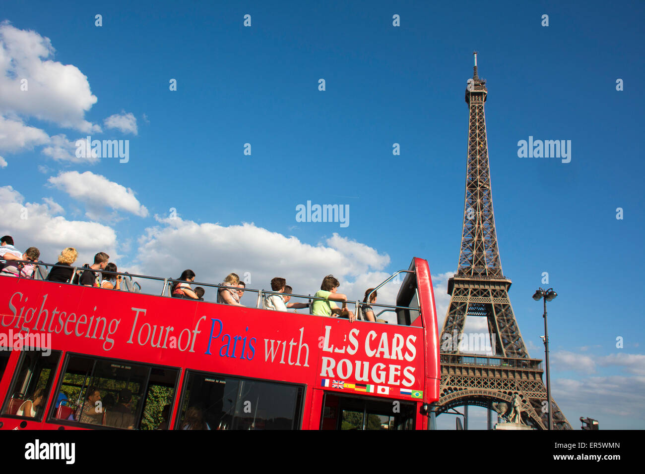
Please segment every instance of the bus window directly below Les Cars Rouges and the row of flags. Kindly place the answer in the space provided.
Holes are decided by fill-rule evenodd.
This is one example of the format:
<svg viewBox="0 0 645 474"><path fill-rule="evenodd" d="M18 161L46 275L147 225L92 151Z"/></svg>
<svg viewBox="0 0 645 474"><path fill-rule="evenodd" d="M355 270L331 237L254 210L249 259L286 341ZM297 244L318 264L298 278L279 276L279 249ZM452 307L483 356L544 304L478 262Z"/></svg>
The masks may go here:
<svg viewBox="0 0 645 474"><path fill-rule="evenodd" d="M326 393L322 430L414 430L415 404Z"/></svg>

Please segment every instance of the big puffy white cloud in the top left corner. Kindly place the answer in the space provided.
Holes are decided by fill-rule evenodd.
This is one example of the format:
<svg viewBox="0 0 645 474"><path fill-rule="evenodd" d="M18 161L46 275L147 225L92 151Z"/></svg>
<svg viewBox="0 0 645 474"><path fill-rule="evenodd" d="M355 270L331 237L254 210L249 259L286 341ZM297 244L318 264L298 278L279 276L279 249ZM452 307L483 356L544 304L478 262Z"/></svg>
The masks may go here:
<svg viewBox="0 0 645 474"><path fill-rule="evenodd" d="M49 38L8 21L0 24L0 113L36 117L84 133L101 131L84 119L97 102L87 77L53 57ZM24 84L26 90L21 90Z"/></svg>

